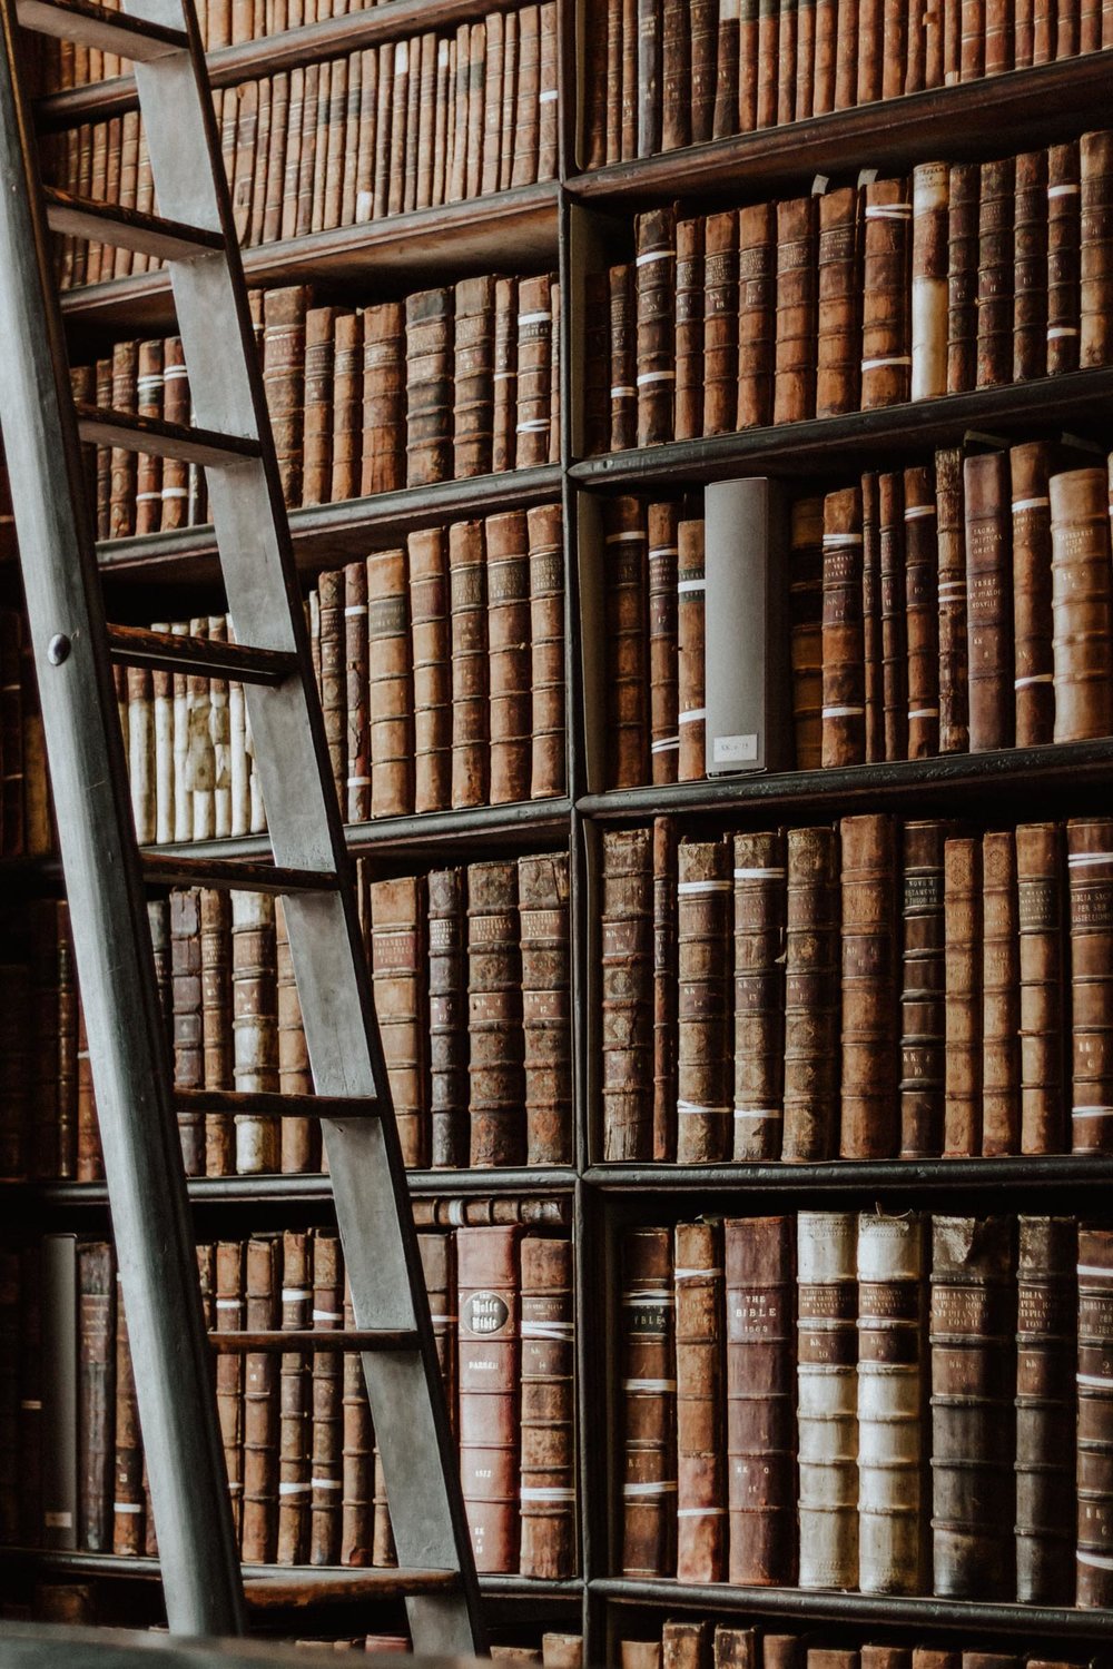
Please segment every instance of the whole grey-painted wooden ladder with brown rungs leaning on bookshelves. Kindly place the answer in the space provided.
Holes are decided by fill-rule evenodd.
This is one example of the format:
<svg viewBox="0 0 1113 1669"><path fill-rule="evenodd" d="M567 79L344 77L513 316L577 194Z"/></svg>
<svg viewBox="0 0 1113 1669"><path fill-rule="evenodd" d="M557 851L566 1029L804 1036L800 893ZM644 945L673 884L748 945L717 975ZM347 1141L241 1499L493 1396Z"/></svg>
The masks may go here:
<svg viewBox="0 0 1113 1669"><path fill-rule="evenodd" d="M225 1334L220 1347L360 1350L402 1566L392 1591L400 1579L417 1651L474 1652L482 1629L459 1472L192 0L127 0L127 12L0 0L0 429L169 1624L244 1629L177 1113L265 1112L322 1122L359 1330ZM22 30L133 62L159 215L43 185ZM73 404L52 232L169 262L195 426ZM82 442L204 466L235 643L107 624ZM244 683L272 863L138 848L113 663ZM315 1095L175 1092L152 885L282 895ZM354 1572L360 1592L370 1576ZM267 1604L274 1582L260 1589Z"/></svg>

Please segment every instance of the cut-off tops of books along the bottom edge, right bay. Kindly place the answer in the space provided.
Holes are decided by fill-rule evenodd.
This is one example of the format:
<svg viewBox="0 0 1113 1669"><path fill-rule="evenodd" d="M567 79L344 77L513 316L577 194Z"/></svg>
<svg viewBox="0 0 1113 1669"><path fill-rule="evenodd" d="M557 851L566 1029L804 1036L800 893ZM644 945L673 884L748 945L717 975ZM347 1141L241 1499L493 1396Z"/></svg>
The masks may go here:
<svg viewBox="0 0 1113 1669"><path fill-rule="evenodd" d="M986 1652L985 1641L976 1649L938 1646L839 1646L823 1644L823 1631L808 1634L766 1634L713 1624L703 1617L669 1621L659 1639L621 1639L617 1669L1085 1669L1086 1659L1063 1662L1021 1652Z"/></svg>

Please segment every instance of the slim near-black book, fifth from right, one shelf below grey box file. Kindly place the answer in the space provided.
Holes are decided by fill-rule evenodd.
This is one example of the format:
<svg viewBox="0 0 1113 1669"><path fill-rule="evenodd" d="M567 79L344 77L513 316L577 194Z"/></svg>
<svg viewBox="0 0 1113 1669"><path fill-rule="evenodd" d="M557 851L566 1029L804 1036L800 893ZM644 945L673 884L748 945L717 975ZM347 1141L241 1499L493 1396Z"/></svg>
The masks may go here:
<svg viewBox="0 0 1113 1669"><path fill-rule="evenodd" d="M938 821L909 821L903 829L901 1158L943 1150L944 833Z"/></svg>

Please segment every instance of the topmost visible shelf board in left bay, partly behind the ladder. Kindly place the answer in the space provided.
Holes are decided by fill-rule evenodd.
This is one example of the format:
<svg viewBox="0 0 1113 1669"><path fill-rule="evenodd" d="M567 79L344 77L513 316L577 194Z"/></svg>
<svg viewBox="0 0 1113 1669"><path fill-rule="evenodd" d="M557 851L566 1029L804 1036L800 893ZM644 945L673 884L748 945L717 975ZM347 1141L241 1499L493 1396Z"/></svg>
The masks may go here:
<svg viewBox="0 0 1113 1669"><path fill-rule="evenodd" d="M235 47L217 47L207 53L209 80L214 87L235 87L257 75L277 75L302 63L320 63L325 58L360 52L380 42L400 40L405 35L432 28L454 30L459 23L474 23L489 12L509 12L519 0L390 0L365 12L347 12L322 23L284 30L279 35L260 35ZM125 110L135 110L138 97L133 75L117 75L107 82L90 82L50 93L35 105L35 120L42 129L72 127L75 122L102 122Z"/></svg>

